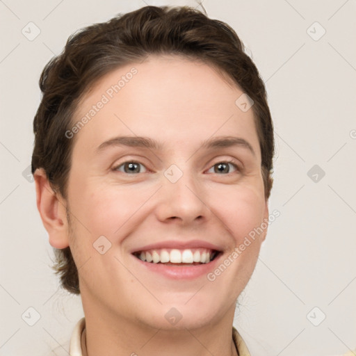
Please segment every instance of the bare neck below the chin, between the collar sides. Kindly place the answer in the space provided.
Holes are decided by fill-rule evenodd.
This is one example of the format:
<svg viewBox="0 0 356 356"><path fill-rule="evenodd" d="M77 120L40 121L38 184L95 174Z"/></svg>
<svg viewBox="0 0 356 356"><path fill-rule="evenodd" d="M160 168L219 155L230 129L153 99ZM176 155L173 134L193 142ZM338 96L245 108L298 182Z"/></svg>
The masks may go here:
<svg viewBox="0 0 356 356"><path fill-rule="evenodd" d="M185 355L237 356L232 339L234 305L217 323L191 328L158 329L145 323L125 318L113 311L83 308L86 316L86 351L83 356L117 355Z"/></svg>

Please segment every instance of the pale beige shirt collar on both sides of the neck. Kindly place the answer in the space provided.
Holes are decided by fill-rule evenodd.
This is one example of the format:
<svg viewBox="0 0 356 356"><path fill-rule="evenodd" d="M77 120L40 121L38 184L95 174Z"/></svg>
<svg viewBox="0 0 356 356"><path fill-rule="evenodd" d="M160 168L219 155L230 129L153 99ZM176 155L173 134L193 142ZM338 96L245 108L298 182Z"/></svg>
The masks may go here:
<svg viewBox="0 0 356 356"><path fill-rule="evenodd" d="M86 346L85 346L85 329L86 329L86 318L81 318L78 323L76 323L72 338L70 339L70 356L87 356ZM250 356L250 352L243 341L241 335L232 327L232 339L234 340L236 350L238 350L238 356ZM83 349L83 353L82 353Z"/></svg>

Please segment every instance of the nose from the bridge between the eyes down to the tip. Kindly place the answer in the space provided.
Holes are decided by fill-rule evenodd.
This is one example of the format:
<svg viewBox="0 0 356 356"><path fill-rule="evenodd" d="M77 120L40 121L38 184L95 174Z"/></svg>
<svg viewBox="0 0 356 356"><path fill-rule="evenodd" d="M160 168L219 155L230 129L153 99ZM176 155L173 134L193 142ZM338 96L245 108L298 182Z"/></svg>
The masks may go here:
<svg viewBox="0 0 356 356"><path fill-rule="evenodd" d="M188 163L172 164L163 173L159 218L178 218L188 223L205 216L203 187L196 179L195 170Z"/></svg>

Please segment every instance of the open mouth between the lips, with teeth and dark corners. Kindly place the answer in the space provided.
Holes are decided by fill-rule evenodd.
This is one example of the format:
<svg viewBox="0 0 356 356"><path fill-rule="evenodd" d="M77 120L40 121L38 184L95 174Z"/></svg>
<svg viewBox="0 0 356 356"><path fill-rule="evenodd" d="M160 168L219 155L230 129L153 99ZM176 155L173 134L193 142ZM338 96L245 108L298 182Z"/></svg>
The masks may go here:
<svg viewBox="0 0 356 356"><path fill-rule="evenodd" d="M133 252L133 256L149 264L165 266L197 266L210 264L222 252L208 248L160 248Z"/></svg>

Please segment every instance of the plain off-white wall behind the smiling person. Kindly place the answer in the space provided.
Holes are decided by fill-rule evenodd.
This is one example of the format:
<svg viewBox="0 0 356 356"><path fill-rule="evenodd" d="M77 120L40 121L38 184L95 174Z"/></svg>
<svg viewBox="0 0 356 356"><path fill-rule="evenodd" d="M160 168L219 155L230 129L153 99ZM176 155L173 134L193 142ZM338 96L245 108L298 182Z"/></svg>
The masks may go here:
<svg viewBox="0 0 356 356"><path fill-rule="evenodd" d="M80 297L60 289L50 268L52 248L35 206L34 183L26 179L40 73L77 29L146 4L197 6L0 1L0 355L68 355L72 329L83 316ZM252 356L345 353L356 347L355 1L203 5L245 43L266 83L275 124L269 207L280 217L268 228L234 325ZM29 22L40 29L33 41L22 34ZM22 318L35 315L29 307L40 314L33 326ZM313 325L323 314L325 320Z"/></svg>

